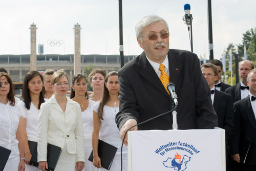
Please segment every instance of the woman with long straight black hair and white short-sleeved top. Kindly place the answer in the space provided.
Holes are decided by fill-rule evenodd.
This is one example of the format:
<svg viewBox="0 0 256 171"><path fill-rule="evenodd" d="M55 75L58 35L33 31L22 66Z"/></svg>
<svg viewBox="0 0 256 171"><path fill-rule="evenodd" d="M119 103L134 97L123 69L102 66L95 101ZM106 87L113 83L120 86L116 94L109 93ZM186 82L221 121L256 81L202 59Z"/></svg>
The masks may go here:
<svg viewBox="0 0 256 171"><path fill-rule="evenodd" d="M29 165L31 152L29 141L37 142L37 117L41 103L44 103L42 94L42 75L38 71L29 71L25 78L22 90L22 100L18 102L23 108L23 118L26 124L25 157L26 171L39 171L38 167Z"/></svg>

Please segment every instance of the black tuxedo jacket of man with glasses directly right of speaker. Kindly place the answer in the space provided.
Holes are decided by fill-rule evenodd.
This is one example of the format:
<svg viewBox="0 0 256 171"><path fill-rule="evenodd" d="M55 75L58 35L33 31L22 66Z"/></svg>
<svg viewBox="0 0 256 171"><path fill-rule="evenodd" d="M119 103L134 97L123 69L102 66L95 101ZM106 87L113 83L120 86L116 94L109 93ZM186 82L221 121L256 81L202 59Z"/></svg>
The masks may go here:
<svg viewBox="0 0 256 171"><path fill-rule="evenodd" d="M218 127L225 130L227 141L234 129L233 103L231 96L215 89L214 109L218 116Z"/></svg>

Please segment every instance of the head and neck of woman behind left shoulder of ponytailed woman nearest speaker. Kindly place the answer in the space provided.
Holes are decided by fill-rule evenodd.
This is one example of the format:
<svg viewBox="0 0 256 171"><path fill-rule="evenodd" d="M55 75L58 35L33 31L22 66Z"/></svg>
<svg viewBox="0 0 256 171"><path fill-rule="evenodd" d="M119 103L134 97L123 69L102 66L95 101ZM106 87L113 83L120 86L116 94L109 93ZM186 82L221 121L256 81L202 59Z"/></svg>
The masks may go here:
<svg viewBox="0 0 256 171"><path fill-rule="evenodd" d="M93 89L93 93L89 96L91 100L99 101L102 99L105 76L106 72L102 69L93 70L89 74L89 82Z"/></svg>

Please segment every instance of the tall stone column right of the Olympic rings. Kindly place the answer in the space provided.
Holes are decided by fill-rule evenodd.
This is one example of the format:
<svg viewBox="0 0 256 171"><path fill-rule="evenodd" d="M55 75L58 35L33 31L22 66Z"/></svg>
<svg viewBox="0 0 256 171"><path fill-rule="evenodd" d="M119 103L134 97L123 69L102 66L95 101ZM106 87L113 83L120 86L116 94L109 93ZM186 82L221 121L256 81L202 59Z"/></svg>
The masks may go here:
<svg viewBox="0 0 256 171"><path fill-rule="evenodd" d="M80 25L75 25L75 53L74 53L74 75L81 73L81 41Z"/></svg>

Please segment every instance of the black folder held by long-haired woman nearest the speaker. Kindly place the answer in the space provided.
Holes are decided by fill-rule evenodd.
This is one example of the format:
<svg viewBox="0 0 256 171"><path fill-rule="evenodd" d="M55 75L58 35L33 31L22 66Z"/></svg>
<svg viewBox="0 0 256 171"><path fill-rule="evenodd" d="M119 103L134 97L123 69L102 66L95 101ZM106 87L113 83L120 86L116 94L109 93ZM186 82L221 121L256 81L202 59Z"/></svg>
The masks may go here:
<svg viewBox="0 0 256 171"><path fill-rule="evenodd" d="M117 147L99 139L98 155L101 161L101 167L108 170L110 169L116 155L116 151ZM91 162L93 161L93 151L88 160Z"/></svg>

